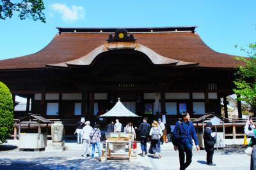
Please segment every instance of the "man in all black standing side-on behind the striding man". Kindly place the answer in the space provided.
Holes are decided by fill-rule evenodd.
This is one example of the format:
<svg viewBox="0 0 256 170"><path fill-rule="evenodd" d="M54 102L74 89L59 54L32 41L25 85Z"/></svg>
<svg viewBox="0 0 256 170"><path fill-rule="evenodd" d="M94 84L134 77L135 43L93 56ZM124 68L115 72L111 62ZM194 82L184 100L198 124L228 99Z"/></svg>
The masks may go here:
<svg viewBox="0 0 256 170"><path fill-rule="evenodd" d="M216 143L215 135L212 132L212 123L207 122L206 128L204 130L204 146L205 151L207 152L206 160L209 166L216 166L216 164L212 163L212 157L214 153L214 145Z"/></svg>

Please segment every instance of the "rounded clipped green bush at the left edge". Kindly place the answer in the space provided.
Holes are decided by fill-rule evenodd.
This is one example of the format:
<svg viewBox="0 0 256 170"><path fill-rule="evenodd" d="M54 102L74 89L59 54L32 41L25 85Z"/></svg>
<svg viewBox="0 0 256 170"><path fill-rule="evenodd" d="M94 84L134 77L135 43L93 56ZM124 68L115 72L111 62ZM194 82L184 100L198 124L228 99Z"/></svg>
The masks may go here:
<svg viewBox="0 0 256 170"><path fill-rule="evenodd" d="M8 87L0 81L0 144L13 131L13 101Z"/></svg>

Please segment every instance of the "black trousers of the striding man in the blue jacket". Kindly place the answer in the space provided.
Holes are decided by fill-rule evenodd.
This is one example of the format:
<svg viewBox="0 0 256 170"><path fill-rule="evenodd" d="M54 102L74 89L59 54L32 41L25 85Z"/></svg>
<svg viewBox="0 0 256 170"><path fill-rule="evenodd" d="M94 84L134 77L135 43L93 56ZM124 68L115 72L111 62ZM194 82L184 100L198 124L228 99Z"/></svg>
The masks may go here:
<svg viewBox="0 0 256 170"><path fill-rule="evenodd" d="M179 159L180 159L180 170L184 170L192 162L192 147L188 148L184 145L179 145L178 150L179 150ZM186 153L186 162L185 162L185 153Z"/></svg>

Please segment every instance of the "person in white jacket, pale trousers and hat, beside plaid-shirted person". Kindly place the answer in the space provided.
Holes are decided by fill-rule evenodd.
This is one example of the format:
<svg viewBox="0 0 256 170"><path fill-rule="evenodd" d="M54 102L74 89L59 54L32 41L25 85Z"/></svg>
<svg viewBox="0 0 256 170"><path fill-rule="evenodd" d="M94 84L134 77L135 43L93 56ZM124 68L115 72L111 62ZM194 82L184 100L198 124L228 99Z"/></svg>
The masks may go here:
<svg viewBox="0 0 256 170"><path fill-rule="evenodd" d="M92 127L90 126L90 121L85 122L85 126L83 127L82 139L84 143L84 154L82 157L90 157L91 152L91 138L90 132L92 131Z"/></svg>

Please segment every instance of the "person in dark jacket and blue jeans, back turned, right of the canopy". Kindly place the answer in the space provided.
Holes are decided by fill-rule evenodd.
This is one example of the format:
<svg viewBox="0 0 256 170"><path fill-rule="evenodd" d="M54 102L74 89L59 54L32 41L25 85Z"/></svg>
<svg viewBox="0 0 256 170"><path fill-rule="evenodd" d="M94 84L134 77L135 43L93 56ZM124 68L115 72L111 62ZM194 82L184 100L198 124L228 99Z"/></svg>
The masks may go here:
<svg viewBox="0 0 256 170"><path fill-rule="evenodd" d="M143 118L143 122L140 124L138 131L140 132L140 146L142 156L145 157L147 155L147 139L150 131L150 125L147 123L148 118ZM135 127L137 129L137 127Z"/></svg>

